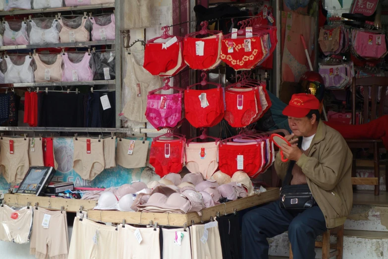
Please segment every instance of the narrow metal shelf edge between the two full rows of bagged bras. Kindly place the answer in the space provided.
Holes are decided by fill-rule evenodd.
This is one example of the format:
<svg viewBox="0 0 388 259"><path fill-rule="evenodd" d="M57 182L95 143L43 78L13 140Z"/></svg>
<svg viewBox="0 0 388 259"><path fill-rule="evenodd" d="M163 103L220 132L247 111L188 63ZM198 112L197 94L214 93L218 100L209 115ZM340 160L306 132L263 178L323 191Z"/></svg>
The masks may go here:
<svg viewBox="0 0 388 259"><path fill-rule="evenodd" d="M46 43L46 44L33 44L33 45L16 45L16 46L1 46L0 51L7 50L25 50L25 49L38 49L38 48L82 48L98 45L111 45L114 44L114 40L105 41L85 41L85 42L69 42L69 43Z"/></svg>

